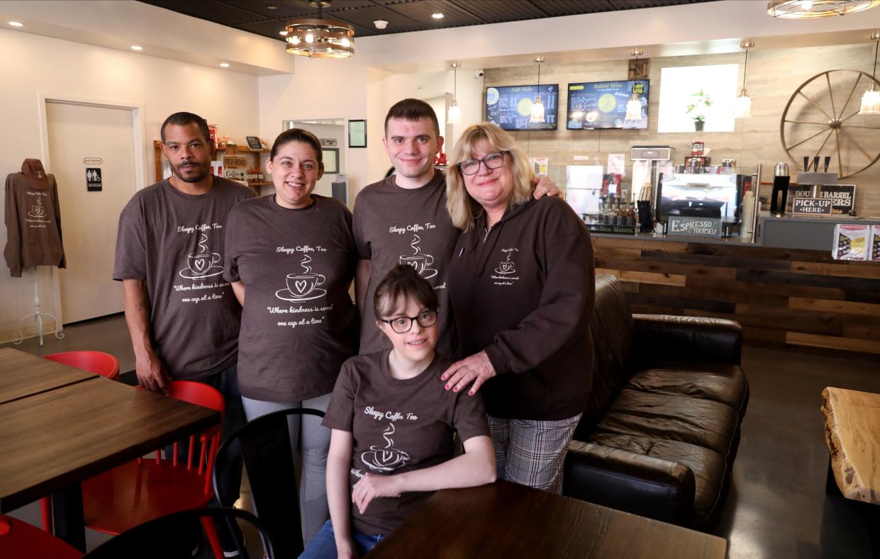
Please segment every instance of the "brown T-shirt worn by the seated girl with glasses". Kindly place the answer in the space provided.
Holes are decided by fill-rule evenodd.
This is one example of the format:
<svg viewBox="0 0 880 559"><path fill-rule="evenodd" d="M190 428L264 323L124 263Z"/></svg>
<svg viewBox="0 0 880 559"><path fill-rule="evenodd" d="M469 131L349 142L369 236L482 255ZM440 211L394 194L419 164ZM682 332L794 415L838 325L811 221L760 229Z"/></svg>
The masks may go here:
<svg viewBox="0 0 880 559"><path fill-rule="evenodd" d="M351 432L351 486L365 473L390 476L430 468L452 458L452 433L462 441L488 436L479 396L444 390L440 374L451 361L436 355L418 376L401 381L388 371L388 351L359 355L342 366L322 425ZM362 534L389 534L431 496L411 491L377 497L361 514L351 507Z"/></svg>

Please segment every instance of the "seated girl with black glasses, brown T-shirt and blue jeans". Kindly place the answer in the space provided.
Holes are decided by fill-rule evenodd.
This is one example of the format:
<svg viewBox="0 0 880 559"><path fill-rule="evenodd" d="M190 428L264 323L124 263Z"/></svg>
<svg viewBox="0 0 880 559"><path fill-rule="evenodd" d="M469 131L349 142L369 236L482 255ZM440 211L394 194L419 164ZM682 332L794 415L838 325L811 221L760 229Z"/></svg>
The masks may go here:
<svg viewBox="0 0 880 559"><path fill-rule="evenodd" d="M391 350L348 359L323 425L330 520L301 557L356 557L375 547L431 491L495 481L495 458L479 397L445 392L451 365L434 347L434 289L398 265L373 298L376 325ZM465 454L453 457L453 433Z"/></svg>

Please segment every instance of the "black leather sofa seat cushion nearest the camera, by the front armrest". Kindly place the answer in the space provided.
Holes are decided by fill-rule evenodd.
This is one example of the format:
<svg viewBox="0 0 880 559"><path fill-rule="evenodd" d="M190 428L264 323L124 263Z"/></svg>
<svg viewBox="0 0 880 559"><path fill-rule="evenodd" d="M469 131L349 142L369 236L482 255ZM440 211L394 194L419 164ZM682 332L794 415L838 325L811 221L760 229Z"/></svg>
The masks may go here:
<svg viewBox="0 0 880 559"><path fill-rule="evenodd" d="M727 468L721 455L708 448L678 440L657 440L613 433L597 433L590 438L590 442L621 448L634 454L662 458L691 468L696 485L693 501L694 523L699 525L700 521L710 518L715 512L722 496L722 483Z"/></svg>

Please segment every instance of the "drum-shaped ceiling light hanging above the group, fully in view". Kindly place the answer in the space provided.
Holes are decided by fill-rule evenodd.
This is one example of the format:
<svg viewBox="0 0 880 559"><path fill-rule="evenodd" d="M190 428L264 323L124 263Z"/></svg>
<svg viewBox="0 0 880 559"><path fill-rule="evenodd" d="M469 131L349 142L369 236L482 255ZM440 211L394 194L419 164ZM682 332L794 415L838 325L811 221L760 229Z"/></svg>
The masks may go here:
<svg viewBox="0 0 880 559"><path fill-rule="evenodd" d="M302 54L315 58L350 58L355 54L355 30L351 25L324 19L322 9L330 7L330 0L309 0L318 8L317 19L293 19L285 27L288 54Z"/></svg>

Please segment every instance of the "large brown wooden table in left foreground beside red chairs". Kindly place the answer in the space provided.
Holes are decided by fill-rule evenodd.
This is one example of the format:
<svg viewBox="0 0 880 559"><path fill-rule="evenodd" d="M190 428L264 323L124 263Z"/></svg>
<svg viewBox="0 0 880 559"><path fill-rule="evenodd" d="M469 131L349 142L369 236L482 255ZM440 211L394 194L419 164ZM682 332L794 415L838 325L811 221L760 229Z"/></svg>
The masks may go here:
<svg viewBox="0 0 880 559"><path fill-rule="evenodd" d="M55 534L84 551L80 482L216 425L220 413L97 375L70 383L84 372L58 363L39 381L18 374L44 360L0 350L0 513L51 494Z"/></svg>

